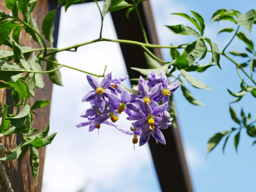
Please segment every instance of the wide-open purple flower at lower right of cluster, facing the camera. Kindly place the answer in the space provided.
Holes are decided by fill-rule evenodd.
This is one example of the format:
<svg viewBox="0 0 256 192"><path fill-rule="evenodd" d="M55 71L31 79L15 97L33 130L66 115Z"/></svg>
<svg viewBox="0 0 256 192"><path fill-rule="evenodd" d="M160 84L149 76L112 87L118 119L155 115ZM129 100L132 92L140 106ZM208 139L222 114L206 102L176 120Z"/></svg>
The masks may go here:
<svg viewBox="0 0 256 192"><path fill-rule="evenodd" d="M143 101L141 101L143 102ZM133 116L127 117L128 120L137 120L133 122L132 125L137 129L141 129L142 133L139 139L139 146L144 145L148 142L150 135L165 144L165 139L161 131L155 129L156 125L159 125L163 119L158 117L167 108L167 103L156 107L153 111L149 105L140 105L143 114L135 114Z"/></svg>

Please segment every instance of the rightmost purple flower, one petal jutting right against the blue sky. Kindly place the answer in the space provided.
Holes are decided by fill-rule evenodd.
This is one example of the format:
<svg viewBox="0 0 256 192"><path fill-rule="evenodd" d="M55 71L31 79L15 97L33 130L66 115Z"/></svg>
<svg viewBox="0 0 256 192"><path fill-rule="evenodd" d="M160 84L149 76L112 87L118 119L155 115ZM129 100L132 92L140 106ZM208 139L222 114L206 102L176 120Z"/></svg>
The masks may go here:
<svg viewBox="0 0 256 192"><path fill-rule="evenodd" d="M162 83L161 91L159 91L158 95L155 97L155 101L159 102L162 99L162 103L168 103L166 108L167 111L170 110L170 98L169 96L171 93L177 90L180 87L180 82L173 82L168 85L167 77L164 71L160 73L161 79L160 82Z"/></svg>

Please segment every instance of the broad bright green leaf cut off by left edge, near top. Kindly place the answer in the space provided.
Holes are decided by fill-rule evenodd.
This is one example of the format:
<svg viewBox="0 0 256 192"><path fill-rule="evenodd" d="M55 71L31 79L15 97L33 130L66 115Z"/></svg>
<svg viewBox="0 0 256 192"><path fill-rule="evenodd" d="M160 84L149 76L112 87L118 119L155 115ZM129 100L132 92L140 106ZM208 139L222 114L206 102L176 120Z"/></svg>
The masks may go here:
<svg viewBox="0 0 256 192"><path fill-rule="evenodd" d="M17 25L18 23L15 23L14 20L5 20L0 23L0 45L5 42L12 29L14 29Z"/></svg>

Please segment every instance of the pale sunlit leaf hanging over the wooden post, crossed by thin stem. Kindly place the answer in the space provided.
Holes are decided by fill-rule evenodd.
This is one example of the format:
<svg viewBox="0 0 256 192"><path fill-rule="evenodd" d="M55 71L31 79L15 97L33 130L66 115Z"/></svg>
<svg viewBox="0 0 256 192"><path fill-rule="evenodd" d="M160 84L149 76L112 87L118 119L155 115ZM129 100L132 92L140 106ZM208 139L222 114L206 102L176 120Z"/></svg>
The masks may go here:
<svg viewBox="0 0 256 192"><path fill-rule="evenodd" d="M40 55L40 53L36 54L28 62L31 70L33 70L33 71L42 71L41 61L39 60L39 55ZM29 77L31 78L33 75L35 76L35 81L36 81L35 85L36 85L36 87L40 88L40 89L44 89L45 84L44 84L42 73L35 73L35 74L34 73L30 73Z"/></svg>

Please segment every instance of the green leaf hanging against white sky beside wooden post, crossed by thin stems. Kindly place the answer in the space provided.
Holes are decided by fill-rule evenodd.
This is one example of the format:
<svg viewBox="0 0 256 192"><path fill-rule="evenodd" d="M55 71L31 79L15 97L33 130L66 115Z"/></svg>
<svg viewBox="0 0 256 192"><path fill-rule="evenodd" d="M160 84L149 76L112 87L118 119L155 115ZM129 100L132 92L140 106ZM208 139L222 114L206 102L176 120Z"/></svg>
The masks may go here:
<svg viewBox="0 0 256 192"><path fill-rule="evenodd" d="M55 58L55 55L51 55L48 60L52 60L52 61L56 61L57 59ZM53 64L52 62L47 62L47 66L46 66L46 70L50 71L50 70L54 70L58 68L58 65ZM53 83L55 83L56 85L60 85L63 86L62 81L61 81L61 72L60 70L56 70L54 72L48 73L49 78L51 79L51 81Z"/></svg>

